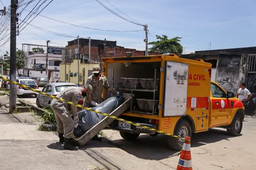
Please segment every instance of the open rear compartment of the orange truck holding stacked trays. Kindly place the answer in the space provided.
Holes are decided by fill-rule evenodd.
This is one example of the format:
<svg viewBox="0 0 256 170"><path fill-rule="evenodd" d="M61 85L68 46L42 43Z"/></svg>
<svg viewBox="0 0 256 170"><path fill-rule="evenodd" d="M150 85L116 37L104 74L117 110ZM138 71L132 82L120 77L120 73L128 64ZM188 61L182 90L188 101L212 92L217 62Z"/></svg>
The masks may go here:
<svg viewBox="0 0 256 170"><path fill-rule="evenodd" d="M130 108L119 116L120 118L150 128L158 128L160 68L161 62L108 63L108 84L119 92L132 94L133 96ZM111 93L107 92L106 99L111 95ZM135 114L137 116L132 116ZM156 119L146 119L138 115L151 115ZM134 133L155 133L154 131L127 125L117 120L110 127Z"/></svg>

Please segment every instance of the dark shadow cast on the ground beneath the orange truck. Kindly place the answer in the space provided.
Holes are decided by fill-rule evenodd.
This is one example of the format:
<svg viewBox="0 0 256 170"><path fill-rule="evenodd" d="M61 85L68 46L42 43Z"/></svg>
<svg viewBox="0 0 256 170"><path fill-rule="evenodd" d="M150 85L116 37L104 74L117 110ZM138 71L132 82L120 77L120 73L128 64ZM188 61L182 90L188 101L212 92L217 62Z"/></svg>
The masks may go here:
<svg viewBox="0 0 256 170"><path fill-rule="evenodd" d="M242 135L242 134L241 134ZM231 138L226 130L209 129L209 131L192 134L191 147L199 147L221 140L229 140ZM124 139L108 141L104 139L101 142L90 140L80 150L88 150L90 148L120 148L123 151L134 155L140 159L162 160L172 157L178 151L169 148L167 144L167 136L158 135L151 137L149 135L140 135L136 141L125 141ZM59 142L47 146L50 149L63 150L63 145Z"/></svg>

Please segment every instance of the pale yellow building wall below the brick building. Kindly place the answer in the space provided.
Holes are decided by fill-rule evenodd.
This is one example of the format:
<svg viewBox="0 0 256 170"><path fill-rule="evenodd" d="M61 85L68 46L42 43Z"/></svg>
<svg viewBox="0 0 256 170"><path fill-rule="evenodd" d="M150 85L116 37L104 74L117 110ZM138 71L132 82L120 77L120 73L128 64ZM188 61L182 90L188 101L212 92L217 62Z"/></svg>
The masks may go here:
<svg viewBox="0 0 256 170"><path fill-rule="evenodd" d="M84 85L84 80L86 81L86 79L88 78L88 73L91 73L90 70L92 70L92 67L94 65L100 65L100 64L87 64L87 63L80 63L79 60L79 75L82 75L82 81L79 81L79 85ZM83 78L83 68L85 70L84 72L84 78ZM77 60L74 60L73 63L70 64L66 64L66 74L68 74L70 71L70 73L76 73L78 72L77 70ZM60 82L65 82L65 64L60 63ZM70 81L69 81L70 80ZM76 77L70 77L68 74L68 79L66 80L66 82L70 82L70 83L75 83L78 84L78 75Z"/></svg>

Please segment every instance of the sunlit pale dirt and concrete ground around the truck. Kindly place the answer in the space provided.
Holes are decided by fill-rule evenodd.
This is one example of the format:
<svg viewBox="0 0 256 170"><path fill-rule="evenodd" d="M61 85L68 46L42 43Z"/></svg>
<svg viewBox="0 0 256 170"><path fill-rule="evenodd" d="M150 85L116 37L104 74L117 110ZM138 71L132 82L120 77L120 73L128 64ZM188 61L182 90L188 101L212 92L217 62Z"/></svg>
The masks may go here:
<svg viewBox="0 0 256 170"><path fill-rule="evenodd" d="M1 169L176 169L179 157L168 148L166 136L142 134L134 142L125 141L118 131L105 129L108 137L89 141L79 151L63 150L56 132L38 130L31 113L0 112ZM246 116L242 134L228 136L225 129L193 134L191 140L194 170L256 169L256 118Z"/></svg>

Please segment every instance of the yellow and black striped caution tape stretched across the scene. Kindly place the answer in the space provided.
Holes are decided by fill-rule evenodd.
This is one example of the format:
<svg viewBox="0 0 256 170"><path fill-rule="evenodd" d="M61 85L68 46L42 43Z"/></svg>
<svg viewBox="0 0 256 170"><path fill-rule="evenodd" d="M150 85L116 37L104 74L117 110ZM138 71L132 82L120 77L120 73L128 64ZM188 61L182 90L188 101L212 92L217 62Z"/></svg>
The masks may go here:
<svg viewBox="0 0 256 170"><path fill-rule="evenodd" d="M13 83L13 84L15 84L15 85L19 85L20 87L23 87L23 88L25 88L25 89L31 90L31 91L33 91L33 92L37 92L37 93L39 93L39 94L43 94L43 95L48 96L48 97L51 97L51 98L53 98L53 99L60 100L60 101L62 101L62 102L64 102L64 103L68 103L68 104L70 104L70 105L74 105L74 106L76 106L76 107L80 107L80 108L83 108L83 109L86 109L86 110L89 110L89 111L98 113L98 114L100 114L100 115L104 115L104 116L110 117L110 118L112 118L112 119L116 119L116 120L119 120L119 121L122 121L122 122L130 123L130 124L132 124L132 125L134 125L134 126L139 126L139 127L141 127L141 128L145 128L145 129L148 129L148 130L152 130L152 131L155 131L155 132L157 132L157 133L161 133L161 134L168 135L168 136L171 136L171 137L178 137L178 136L172 135L172 134L170 134L170 133L166 133L166 132L163 132L163 131L160 131L160 130L156 130L156 129L153 129L153 128L149 128L149 127L147 127L147 126L142 126L142 125L140 125L140 124L138 124L138 123L133 123L133 122L130 122L130 121L127 121L127 120L118 118L118 117L116 117L116 116L111 116L111 115L108 115L108 114L106 114L106 113L101 113L101 112L96 111L96 110L93 110L93 109L91 109L91 108L84 107L84 106L78 105L78 104L76 104L76 103L73 103L73 102L70 102L70 101L67 101L67 100L64 100L64 99L60 99L60 98L58 98L58 97L49 95L49 94L47 94L47 93L45 93L45 92L41 92L41 91L38 91L38 90L33 89L33 88L31 88L31 87L28 87L28 86L26 86L26 85L22 85L22 84L20 84L20 83L17 83L16 81L9 80L9 79L4 78L4 77L2 77L2 76L0 76L0 79L5 80L5 81L8 81L8 82L10 82L10 83ZM185 140L186 142L189 142L189 141L190 141L190 140L185 139L185 138L182 138L182 137L178 137L178 138L183 139L183 140Z"/></svg>

